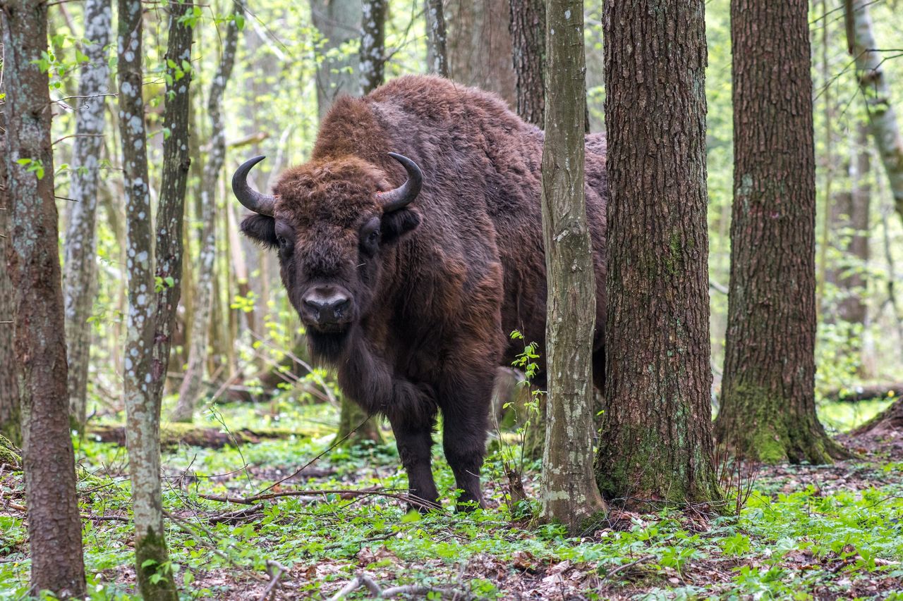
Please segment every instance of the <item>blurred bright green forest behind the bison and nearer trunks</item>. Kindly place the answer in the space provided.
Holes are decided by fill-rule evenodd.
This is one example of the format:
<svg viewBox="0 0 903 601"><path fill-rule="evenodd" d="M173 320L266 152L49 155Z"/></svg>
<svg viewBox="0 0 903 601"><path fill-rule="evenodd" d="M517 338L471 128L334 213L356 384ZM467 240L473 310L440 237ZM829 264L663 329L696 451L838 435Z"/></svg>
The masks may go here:
<svg viewBox="0 0 903 601"><path fill-rule="evenodd" d="M236 6L241 10L235 12ZM899 48L903 11L897 0L879 0L869 8L884 60L882 69L889 82L889 103L903 106L903 49ZM83 328L67 323L68 335L82 329L81 337L69 336L70 365L87 365L85 403L75 412L76 458L83 467L97 471L103 466L112 475L117 469L122 471L116 462L121 463L123 458L110 448L95 446L95 442L121 438L124 419L125 190L120 177L120 124L114 97L115 42L104 51L109 65L106 82L98 83L99 93L109 97L105 103L98 103L98 97L86 98L79 91L79 77L89 62L85 25L91 20L84 10L85 5L78 2L50 6L51 45L42 69L51 77L53 175L60 212L63 285L90 301ZM494 91L517 109L512 66L512 57L517 57L508 4L450 0L444 3L444 11L449 77ZM142 94L152 207L163 189L163 144L171 134L163 116L165 88L171 83L168 78L172 78L173 69L182 68L183 75L191 74L191 168L185 203L182 301L173 328L163 419L193 419L196 428L164 429L164 436L172 436L176 444L182 441L187 445L192 435L218 439L217 445L223 439L234 442L243 436L241 430L247 430L248 440L259 442L268 436L284 437L291 431L291 436L303 438L301 446L259 448L264 454L282 454L284 467L292 464L292 458L318 448L318 441L324 437L331 438L336 430L348 431L356 425L347 407L342 423L341 395L330 374L305 365L309 362L303 328L279 282L275 255L239 236L237 223L243 209L228 192L228 174L245 158L266 154L269 159L256 172L256 186L265 190L280 171L309 157L321 116L331 100L343 92L358 95L365 85L358 68L361 14L359 0L196 5L185 17L194 29L191 64L180 65L176 60L173 67L172 58L165 57L168 13L163 4L144 3ZM428 17L429 3L389 0L385 79L435 70L428 43ZM587 111L590 129L597 132L604 130L600 3L588 2L584 19ZM107 26L115 32L116 21ZM847 48L842 3L815 2L810 30L818 190L816 399L825 426L840 432L888 407L903 388L899 384L903 380L903 299L899 298L903 221L895 215L889 182L865 131L866 103ZM733 197L731 32L726 0L707 3L706 37L712 405L717 409L727 321ZM234 68L224 75L223 58L229 51L234 52ZM77 136L76 116L89 106L102 108L98 119L103 123L95 126L103 133ZM221 120L217 119L218 112ZM77 145L92 137L98 144L100 173L96 215L92 217L96 249L80 244L83 230L79 230L79 223L90 208L78 207L79 196L86 190L79 190L73 177L83 168L78 166ZM42 168L39 164L32 167ZM80 272L71 270L76 265L82 266ZM85 277L92 271L96 278ZM168 283L160 279L156 285L163 289ZM0 321L5 317L0 316ZM73 344L76 340L81 343ZM8 340L0 339L0 345L4 344L8 345ZM250 400L268 404L249 404ZM79 413L83 417L79 418ZM86 431L88 437L83 438ZM369 439L381 439L386 432L376 428L364 434ZM191 472L193 461L206 457L204 451L181 448L164 458L164 469L173 474ZM237 448L240 451L241 445ZM369 455L360 457L383 452L379 445L364 448ZM354 462L360 457L346 452L351 454L348 465L357 465ZM253 463L228 453L223 451L219 458L209 459L213 463L207 467L215 471L247 468ZM231 460L237 463L227 465ZM342 457L330 460L340 465ZM263 463L265 459L261 459ZM196 476L197 472L192 474ZM272 473L261 477L274 478ZM21 523L11 520L9 532L21 529ZM10 545L8 550L14 552L14 536L9 541L5 540ZM249 564L260 561L232 558L246 559ZM678 573L684 565L681 561L685 559L675 564ZM24 578L23 564L6 565L12 566L6 576ZM93 565L98 571L106 569L104 561L97 558ZM663 569L674 570L668 565ZM112 579L121 582L128 577L119 573ZM205 583L205 587L210 586L214 585Z"/></svg>

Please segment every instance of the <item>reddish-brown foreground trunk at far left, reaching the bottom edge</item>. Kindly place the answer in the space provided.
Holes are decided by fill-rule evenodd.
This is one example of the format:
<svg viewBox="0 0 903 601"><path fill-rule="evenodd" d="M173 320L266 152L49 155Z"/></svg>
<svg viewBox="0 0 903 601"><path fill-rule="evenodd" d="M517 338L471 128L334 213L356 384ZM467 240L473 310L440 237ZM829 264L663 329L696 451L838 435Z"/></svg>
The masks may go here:
<svg viewBox="0 0 903 601"><path fill-rule="evenodd" d="M85 594L75 455L69 430L66 340L53 198L47 5L9 0L3 21L8 269L15 364L22 403L23 468L32 590ZM3 242L7 242L6 239Z"/></svg>

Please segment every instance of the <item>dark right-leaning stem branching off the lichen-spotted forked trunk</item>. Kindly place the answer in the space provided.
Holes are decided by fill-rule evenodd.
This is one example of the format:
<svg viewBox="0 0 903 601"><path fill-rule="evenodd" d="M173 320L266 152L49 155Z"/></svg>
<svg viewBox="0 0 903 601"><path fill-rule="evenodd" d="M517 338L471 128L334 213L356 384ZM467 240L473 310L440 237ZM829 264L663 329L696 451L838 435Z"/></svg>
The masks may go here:
<svg viewBox="0 0 903 601"><path fill-rule="evenodd" d="M169 38L164 60L166 108L163 113L163 180L157 203L154 347L151 364L151 393L159 406L169 367L170 348L175 333L175 314L182 295L182 218L185 215L185 188L191 169L189 124L191 110L192 28L182 17L191 14L191 0L170 4ZM182 22L180 22L182 20Z"/></svg>

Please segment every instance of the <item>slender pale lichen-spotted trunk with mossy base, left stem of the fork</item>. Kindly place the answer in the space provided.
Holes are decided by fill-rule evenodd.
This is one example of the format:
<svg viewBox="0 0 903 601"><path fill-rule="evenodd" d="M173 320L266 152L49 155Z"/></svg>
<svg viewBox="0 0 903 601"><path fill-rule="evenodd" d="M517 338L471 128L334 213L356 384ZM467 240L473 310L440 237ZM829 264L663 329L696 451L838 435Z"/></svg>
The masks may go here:
<svg viewBox="0 0 903 601"><path fill-rule="evenodd" d="M154 366L154 235L147 178L142 99L142 6L119 0L119 135L126 192L128 311L123 373L126 448L135 521L135 571L145 601L178 599L163 532L160 485L160 402L151 385ZM163 578L153 578L154 575ZM156 581L154 581L156 580Z"/></svg>

